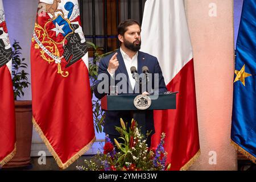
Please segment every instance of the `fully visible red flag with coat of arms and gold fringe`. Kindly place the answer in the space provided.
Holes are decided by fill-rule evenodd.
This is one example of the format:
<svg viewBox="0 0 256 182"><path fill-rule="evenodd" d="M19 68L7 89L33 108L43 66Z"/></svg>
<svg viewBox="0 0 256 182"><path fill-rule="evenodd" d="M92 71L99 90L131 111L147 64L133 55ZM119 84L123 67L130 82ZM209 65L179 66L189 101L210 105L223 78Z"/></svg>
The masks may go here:
<svg viewBox="0 0 256 182"><path fill-rule="evenodd" d="M77 0L39 1L31 45L33 123L63 169L96 139L79 12Z"/></svg>

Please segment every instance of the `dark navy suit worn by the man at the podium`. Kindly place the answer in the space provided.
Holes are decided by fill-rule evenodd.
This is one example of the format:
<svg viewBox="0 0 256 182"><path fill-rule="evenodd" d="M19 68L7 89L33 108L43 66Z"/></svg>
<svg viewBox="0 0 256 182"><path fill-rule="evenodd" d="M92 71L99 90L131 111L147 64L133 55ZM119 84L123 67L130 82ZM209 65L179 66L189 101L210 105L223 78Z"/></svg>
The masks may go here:
<svg viewBox="0 0 256 182"><path fill-rule="evenodd" d="M125 81L127 83L127 92L126 93L118 93L118 94L127 94L127 93L129 93L129 89L130 89L130 91L132 90L132 92L134 92L134 90L130 86L131 84L129 81L129 76L128 76L127 69L125 67L125 62L123 61L123 57L120 52L120 49L118 49L117 52L118 52L117 59L119 61L119 67L115 71L115 76L117 76L118 73L124 73L126 75ZM109 72L107 69L108 69L108 65L109 65L109 60L114 55L114 53L102 58L100 61L99 67L98 67L98 75L100 75L101 73L105 73L106 75L108 75L108 79L109 79L108 86L110 86L110 82L111 82L110 80L112 80L113 78L109 75ZM147 66L149 72L152 73L152 80L153 80L152 81L152 89L154 90L154 73L158 73L159 74L159 93L166 92L167 91L166 84L164 83L162 71L161 71L160 65L159 65L156 57L151 56L148 53L138 51L137 71L138 71L139 75L142 73L143 66ZM104 80L102 80L102 81L104 81ZM112 81L114 81L114 80L112 80ZM119 81L120 80L115 80L114 81L115 85L118 84ZM98 84L100 84L100 82L101 82L101 80L98 80L96 82L96 84L94 85L94 94L99 99L101 99L102 97L104 97L107 94L107 93L99 93L98 92L97 86L98 86ZM106 134L119 135L117 130L115 130L115 126L118 126L118 127L121 126L120 118L122 118L123 121L127 122L128 126L130 126L129 124L131 123L131 119L133 118L132 114L133 113L131 111L106 111L105 124L104 124L103 131ZM153 115L152 110L148 110L147 114L146 114L146 130L152 131L151 134L155 133L154 115Z"/></svg>

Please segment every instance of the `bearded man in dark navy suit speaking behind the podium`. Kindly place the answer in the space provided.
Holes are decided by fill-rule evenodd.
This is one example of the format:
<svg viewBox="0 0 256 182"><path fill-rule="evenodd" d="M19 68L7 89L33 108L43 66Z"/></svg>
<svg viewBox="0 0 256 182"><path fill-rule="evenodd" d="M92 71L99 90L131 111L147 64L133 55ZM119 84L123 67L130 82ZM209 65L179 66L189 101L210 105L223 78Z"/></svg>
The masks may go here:
<svg viewBox="0 0 256 182"><path fill-rule="evenodd" d="M118 49L118 51L104 57L100 61L98 67L98 81L94 86L95 96L101 99L108 94L106 92L102 92L103 89L106 89L100 86L102 81L108 82L106 87L109 87L111 83L117 85L118 82L125 81L126 84L122 86L123 88L118 88L119 90L122 89L122 92L118 92L118 94L138 93L136 92L138 84L135 82L133 75L130 72L130 68L137 68L138 74L141 75L143 66L146 66L148 71L152 73L152 80L157 79L158 81L158 86L154 85L154 81L152 81L152 90L143 90L143 94L149 94L148 92L166 92L166 84L164 83L164 78L158 60L154 56L139 51L141 48L140 24L136 20L131 19L121 22L118 26L118 39L121 42L121 47ZM124 77L120 80L115 79L115 76L120 73L123 73ZM158 74L158 78L156 78L154 73ZM105 75L107 79L99 80L101 74ZM120 118L122 118L123 121L128 122L129 125L131 119L133 118L133 113L131 111L106 111L103 131L109 135L109 138L113 143L114 138L118 139L119 137L119 133L117 130L115 130L115 126L121 126ZM151 135L155 133L154 115L152 110L148 110L146 114L146 131L151 131L150 137L148 137L147 140L147 144L150 146Z"/></svg>

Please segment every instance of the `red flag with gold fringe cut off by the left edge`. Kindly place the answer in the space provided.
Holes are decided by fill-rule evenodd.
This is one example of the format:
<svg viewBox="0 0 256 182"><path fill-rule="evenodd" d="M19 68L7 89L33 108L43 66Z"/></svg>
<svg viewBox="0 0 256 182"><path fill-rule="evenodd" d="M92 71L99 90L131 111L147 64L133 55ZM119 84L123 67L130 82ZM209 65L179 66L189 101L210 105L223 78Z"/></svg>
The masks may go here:
<svg viewBox="0 0 256 182"><path fill-rule="evenodd" d="M5 22L5 11L2 0L0 0L0 168L9 162L16 152L11 55L12 49Z"/></svg>

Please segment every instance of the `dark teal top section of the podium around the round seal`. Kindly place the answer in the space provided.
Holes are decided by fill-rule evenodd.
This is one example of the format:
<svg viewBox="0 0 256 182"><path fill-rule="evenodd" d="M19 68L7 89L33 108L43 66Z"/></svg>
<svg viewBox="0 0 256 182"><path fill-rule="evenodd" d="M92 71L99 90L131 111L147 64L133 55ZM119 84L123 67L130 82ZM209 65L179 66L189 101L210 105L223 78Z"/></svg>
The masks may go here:
<svg viewBox="0 0 256 182"><path fill-rule="evenodd" d="M105 96L101 99L101 108L108 111L139 110L134 105L134 98L138 94L123 94L117 96ZM176 109L176 93L148 95L151 105L145 110Z"/></svg>

